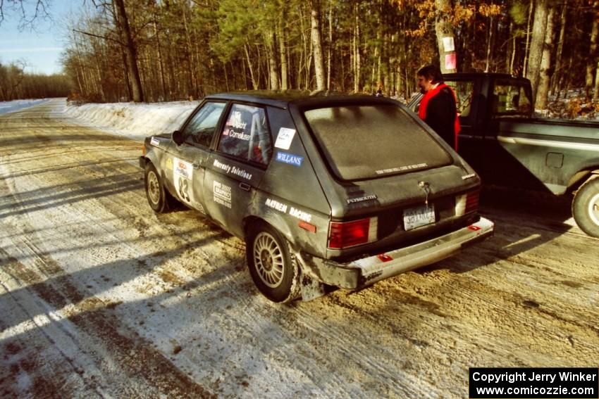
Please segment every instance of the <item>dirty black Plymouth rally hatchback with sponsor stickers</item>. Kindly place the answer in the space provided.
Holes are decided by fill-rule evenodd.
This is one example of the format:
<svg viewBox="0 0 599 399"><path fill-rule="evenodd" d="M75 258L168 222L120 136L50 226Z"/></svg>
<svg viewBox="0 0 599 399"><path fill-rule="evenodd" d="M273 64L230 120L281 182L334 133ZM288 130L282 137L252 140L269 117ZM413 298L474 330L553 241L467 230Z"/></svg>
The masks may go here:
<svg viewBox="0 0 599 399"><path fill-rule="evenodd" d="M478 175L405 106L375 96L207 96L147 137L147 199L176 201L244 239L270 300L361 289L493 234Z"/></svg>

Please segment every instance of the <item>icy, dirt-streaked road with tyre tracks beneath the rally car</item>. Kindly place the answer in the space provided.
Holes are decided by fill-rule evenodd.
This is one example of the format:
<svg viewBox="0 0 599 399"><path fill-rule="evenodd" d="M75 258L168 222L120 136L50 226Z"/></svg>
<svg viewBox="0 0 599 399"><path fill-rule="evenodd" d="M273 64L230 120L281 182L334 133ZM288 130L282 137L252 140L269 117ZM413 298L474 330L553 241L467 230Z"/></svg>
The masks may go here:
<svg viewBox="0 0 599 399"><path fill-rule="evenodd" d="M276 305L242 241L154 215L140 141L64 108L0 116L1 397L464 398L469 367L598 366L599 240L567 201L507 194L455 258Z"/></svg>

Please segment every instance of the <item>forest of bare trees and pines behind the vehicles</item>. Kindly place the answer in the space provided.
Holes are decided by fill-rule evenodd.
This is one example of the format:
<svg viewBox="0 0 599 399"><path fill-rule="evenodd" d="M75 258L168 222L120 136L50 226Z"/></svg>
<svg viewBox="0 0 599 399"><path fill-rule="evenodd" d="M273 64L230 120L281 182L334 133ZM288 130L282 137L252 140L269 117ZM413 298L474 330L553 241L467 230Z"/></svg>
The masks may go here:
<svg viewBox="0 0 599 399"><path fill-rule="evenodd" d="M407 99L416 71L505 72L549 94L599 93L599 0L77 0L64 21L63 74L0 63L0 101L199 99L304 89ZM23 27L51 0L0 1Z"/></svg>

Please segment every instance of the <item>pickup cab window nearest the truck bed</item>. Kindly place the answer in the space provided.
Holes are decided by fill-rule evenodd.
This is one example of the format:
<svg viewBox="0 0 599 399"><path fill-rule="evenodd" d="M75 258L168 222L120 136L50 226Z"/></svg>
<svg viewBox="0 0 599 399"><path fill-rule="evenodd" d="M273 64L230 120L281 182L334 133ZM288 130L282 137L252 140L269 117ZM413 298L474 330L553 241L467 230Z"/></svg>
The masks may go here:
<svg viewBox="0 0 599 399"><path fill-rule="evenodd" d="M489 109L493 117L531 115L532 106L526 86L514 80L495 80Z"/></svg>

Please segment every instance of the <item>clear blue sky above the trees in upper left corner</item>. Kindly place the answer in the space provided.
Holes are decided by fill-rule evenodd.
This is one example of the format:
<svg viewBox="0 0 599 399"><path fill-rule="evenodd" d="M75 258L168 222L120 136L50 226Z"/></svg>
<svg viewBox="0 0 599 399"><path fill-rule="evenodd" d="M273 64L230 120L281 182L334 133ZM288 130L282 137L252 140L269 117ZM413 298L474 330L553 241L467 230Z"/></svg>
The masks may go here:
<svg viewBox="0 0 599 399"><path fill-rule="evenodd" d="M37 32L30 29L18 30L20 14L10 8L4 10L4 21L0 23L0 62L4 65L23 60L27 72L60 73L60 55L65 46L61 27L63 18L70 8L81 7L83 0L49 0L51 20L37 20ZM25 0L25 10L33 11L35 0ZM6 7L6 1L4 1Z"/></svg>

